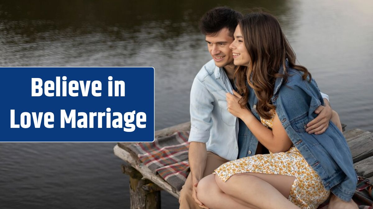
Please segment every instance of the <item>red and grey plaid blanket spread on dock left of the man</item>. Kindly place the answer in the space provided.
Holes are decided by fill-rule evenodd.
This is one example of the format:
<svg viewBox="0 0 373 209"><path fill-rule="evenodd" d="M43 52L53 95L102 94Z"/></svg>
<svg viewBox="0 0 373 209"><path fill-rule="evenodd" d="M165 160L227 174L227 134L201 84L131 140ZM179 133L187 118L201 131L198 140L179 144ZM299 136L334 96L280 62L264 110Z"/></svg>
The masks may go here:
<svg viewBox="0 0 373 209"><path fill-rule="evenodd" d="M181 190L189 174L188 138L189 132L176 132L154 142L130 145L129 149L154 174L158 173L175 189Z"/></svg>

